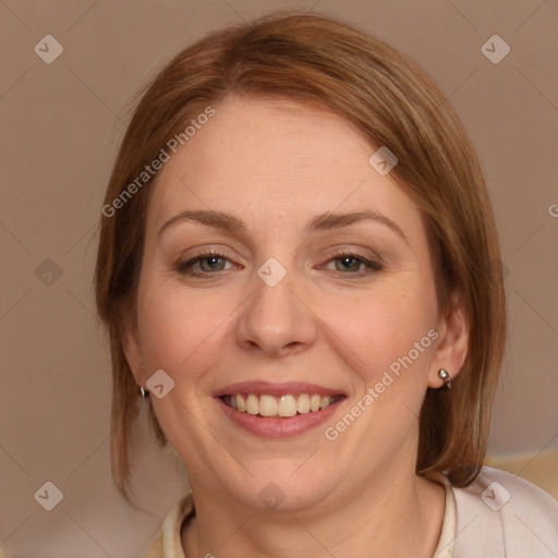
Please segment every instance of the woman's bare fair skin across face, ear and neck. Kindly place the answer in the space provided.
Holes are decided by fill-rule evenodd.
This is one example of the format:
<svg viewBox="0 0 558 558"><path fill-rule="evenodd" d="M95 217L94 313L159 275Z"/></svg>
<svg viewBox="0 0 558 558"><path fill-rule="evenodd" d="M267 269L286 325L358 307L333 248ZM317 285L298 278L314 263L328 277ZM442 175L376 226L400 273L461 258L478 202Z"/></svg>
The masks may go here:
<svg viewBox="0 0 558 558"><path fill-rule="evenodd" d="M426 388L442 386L439 368L452 377L461 369L466 318L458 295L451 312L438 308L420 211L368 163L374 150L317 106L230 97L158 177L124 347L138 385L159 368L175 383L150 399L195 498L196 517L182 529L186 556L434 554L445 496L415 475L417 415ZM233 234L182 221L158 236L185 209L232 213L246 228ZM379 221L303 230L317 214L364 209L392 220L407 240ZM210 278L177 270L207 248L226 259L206 256L190 270ZM343 265L340 248L383 268L354 278L368 268ZM272 288L256 272L269 257L287 271ZM430 329L436 342L326 439L325 427ZM324 426L263 439L233 425L210 396L245 380L308 381L347 399ZM275 510L258 498L269 482L284 494Z"/></svg>

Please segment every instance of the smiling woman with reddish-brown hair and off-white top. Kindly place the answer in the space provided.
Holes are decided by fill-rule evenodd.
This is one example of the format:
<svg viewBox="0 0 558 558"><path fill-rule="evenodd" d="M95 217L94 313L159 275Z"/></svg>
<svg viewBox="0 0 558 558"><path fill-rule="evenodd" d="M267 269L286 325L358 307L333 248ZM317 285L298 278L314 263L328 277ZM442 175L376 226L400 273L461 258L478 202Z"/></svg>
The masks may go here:
<svg viewBox="0 0 558 558"><path fill-rule="evenodd" d="M499 262L459 118L385 43L276 14L179 53L96 271L117 486L141 393L192 487L145 557L555 556L556 500L483 468Z"/></svg>

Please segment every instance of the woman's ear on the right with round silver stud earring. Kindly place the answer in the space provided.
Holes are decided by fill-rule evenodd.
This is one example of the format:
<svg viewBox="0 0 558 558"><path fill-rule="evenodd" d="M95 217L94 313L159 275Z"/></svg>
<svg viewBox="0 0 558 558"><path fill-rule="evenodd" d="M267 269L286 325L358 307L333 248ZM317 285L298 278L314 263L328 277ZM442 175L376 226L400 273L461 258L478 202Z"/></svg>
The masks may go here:
<svg viewBox="0 0 558 558"><path fill-rule="evenodd" d="M430 388L444 386L438 374L441 368L448 371L450 379L453 379L461 372L469 352L469 319L460 293L456 292L451 296L450 307L441 316L436 331L438 339L428 374Z"/></svg>

